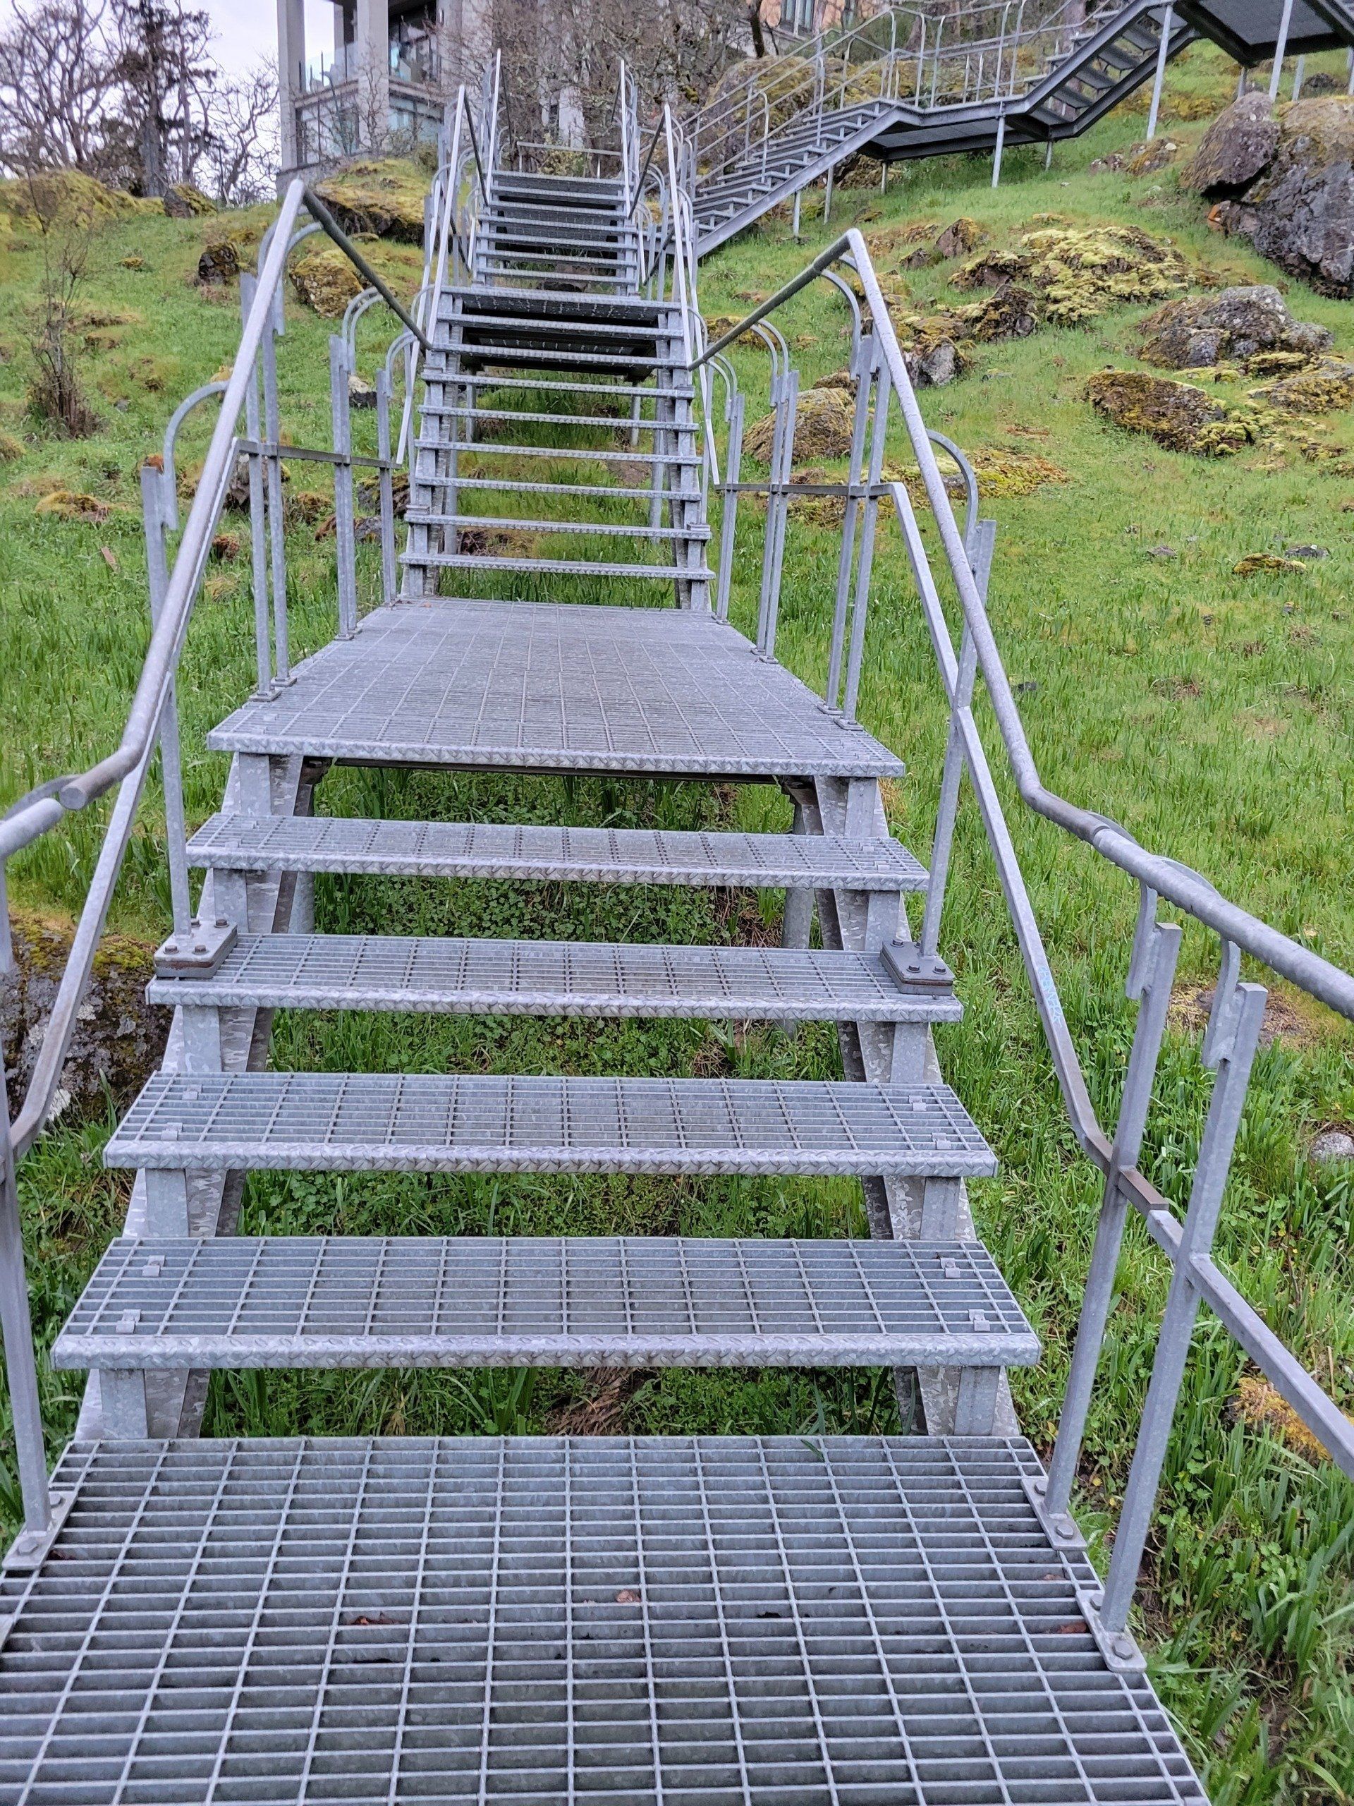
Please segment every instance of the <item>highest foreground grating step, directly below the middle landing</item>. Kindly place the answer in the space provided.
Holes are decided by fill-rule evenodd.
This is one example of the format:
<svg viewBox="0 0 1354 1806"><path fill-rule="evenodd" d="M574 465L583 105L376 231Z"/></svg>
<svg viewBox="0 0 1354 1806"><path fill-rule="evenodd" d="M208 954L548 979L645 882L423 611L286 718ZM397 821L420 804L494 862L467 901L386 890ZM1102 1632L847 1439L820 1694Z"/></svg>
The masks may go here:
<svg viewBox="0 0 1354 1806"><path fill-rule="evenodd" d="M713 885L762 890L921 890L895 840L836 834L700 834L650 827L509 822L372 822L325 815L213 815L193 865L236 872L372 872L408 878Z"/></svg>

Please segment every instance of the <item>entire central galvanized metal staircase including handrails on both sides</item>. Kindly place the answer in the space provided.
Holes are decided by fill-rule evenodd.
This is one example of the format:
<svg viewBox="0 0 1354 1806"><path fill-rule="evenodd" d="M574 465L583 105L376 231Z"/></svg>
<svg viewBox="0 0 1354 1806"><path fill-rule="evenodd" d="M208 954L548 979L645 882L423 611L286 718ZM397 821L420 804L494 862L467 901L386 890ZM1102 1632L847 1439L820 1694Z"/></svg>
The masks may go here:
<svg viewBox="0 0 1354 1806"><path fill-rule="evenodd" d="M51 1483L11 1143L0 1167L25 1504L0 1573L0 1802L1202 1802L1127 1627L1201 1300L1354 1466L1349 1423L1208 1259L1264 1006L1260 986L1237 982L1238 950L1350 1015L1354 981L1038 786L982 605L993 535L973 506L962 531L950 511L859 235L787 291L850 255L874 320L861 334L854 318L858 433L820 697L774 659L784 497L771 484L756 641L728 621L728 558L706 565L706 498L720 498L724 553L744 488L726 347L744 329L784 347L762 321L787 296L704 347L670 117L648 168L626 135L614 182L509 179L493 157L491 92L473 143L469 119L462 94L415 316L379 284L361 303L385 300L404 327L377 372L379 450L354 452L347 417L352 312L330 361L332 448L307 453L330 462L348 502L354 471L376 470L377 605L359 614L354 542L339 531L338 634L291 665L283 522L269 506L283 452L296 455L274 410L285 262L316 226L359 258L296 184L246 284L233 374L190 397L220 397L220 412L172 563L184 410L164 470L146 471L155 632L123 746L0 824L7 858L117 786L13 1129L18 1156L47 1120L157 755L175 903L150 991L173 1008L170 1047L107 1145L108 1163L135 1174L126 1230L51 1353L90 1374ZM395 587L392 374L415 359ZM722 464L709 372L733 423ZM784 448L787 368L774 397ZM966 623L957 652L906 489L881 480L890 406L941 527ZM231 778L188 838L173 674L240 455L258 688L209 735ZM930 869L888 831L881 782L903 762L854 713L881 506L903 527L951 703ZM599 603L599 589L614 600ZM1141 887L1139 1029L1114 1134L1090 1111L973 728L978 672L1022 796ZM787 795L794 820L751 834L327 816L316 809L336 764L758 782ZM1006 1387L1038 1340L968 1210L966 1181L995 1158L932 1044L932 1026L962 1013L937 943L966 771L1072 1125L1108 1176L1049 1474ZM190 867L206 872L195 914ZM312 917L321 872L784 890L784 945L329 934ZM1136 1168L1179 945L1159 899L1224 934L1206 1046L1219 1080L1182 1221ZM816 1020L838 1029L841 1076L274 1071L278 1010ZM379 1237L235 1235L242 1178L258 1170L854 1176L870 1237L433 1237L401 1223ZM1101 1584L1071 1490L1128 1205L1175 1284ZM917 1376L924 1434L197 1434L217 1369L502 1365L885 1367L904 1389Z"/></svg>

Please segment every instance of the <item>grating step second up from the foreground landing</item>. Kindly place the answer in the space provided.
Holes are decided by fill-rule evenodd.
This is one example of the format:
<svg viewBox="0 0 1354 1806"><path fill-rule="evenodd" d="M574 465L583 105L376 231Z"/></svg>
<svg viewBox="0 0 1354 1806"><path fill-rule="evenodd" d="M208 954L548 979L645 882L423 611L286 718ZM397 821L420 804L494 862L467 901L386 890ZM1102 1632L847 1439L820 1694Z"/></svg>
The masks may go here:
<svg viewBox="0 0 1354 1806"><path fill-rule="evenodd" d="M948 1085L441 1073L155 1073L105 1161L162 1172L997 1170Z"/></svg>

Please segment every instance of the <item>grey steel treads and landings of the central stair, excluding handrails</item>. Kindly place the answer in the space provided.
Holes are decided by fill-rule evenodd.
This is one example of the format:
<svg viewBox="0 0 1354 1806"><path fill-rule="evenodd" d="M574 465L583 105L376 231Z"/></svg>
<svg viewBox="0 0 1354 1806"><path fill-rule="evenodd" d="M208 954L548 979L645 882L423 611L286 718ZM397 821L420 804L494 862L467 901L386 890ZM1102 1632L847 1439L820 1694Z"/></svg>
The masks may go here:
<svg viewBox="0 0 1354 1806"><path fill-rule="evenodd" d="M708 614L679 325L625 293L603 190L498 179L437 323L403 596L213 735L231 782L193 858L222 946L162 950L170 1051L108 1143L128 1230L52 1353L94 1378L56 1544L0 1575L0 1806L1204 1799L1015 1434L1002 1373L1038 1340L971 1232L995 1158L930 1040L959 1002L881 961L924 881L883 815L901 762ZM589 293L533 226L561 208L608 260ZM576 448L578 415L478 406L561 372L654 410L655 486L610 488L637 457ZM570 444L460 432L500 415ZM569 565L677 607L542 600L554 560L466 549L518 455L589 471L524 491L551 531L596 535L612 497L666 524L668 565ZM334 762L773 782L794 833L314 816ZM329 936L316 872L785 889L789 945ZM280 1008L825 1020L845 1078L269 1073ZM872 1237L217 1233L247 1168L858 1174ZM930 1434L193 1434L211 1369L505 1364L915 1367Z"/></svg>

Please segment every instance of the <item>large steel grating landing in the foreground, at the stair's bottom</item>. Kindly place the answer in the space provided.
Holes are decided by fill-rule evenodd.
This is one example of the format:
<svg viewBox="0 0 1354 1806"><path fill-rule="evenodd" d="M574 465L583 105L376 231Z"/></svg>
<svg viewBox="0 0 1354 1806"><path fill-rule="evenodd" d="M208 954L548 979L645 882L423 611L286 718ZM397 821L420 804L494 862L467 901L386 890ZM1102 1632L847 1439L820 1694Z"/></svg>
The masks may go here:
<svg viewBox="0 0 1354 1806"><path fill-rule="evenodd" d="M72 1445L2 1806L1206 1806L1022 1439Z"/></svg>

